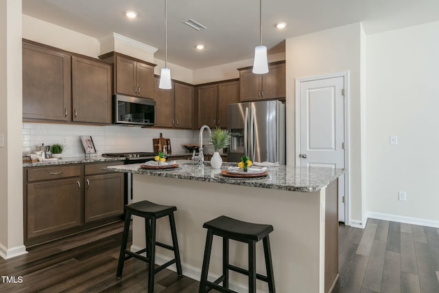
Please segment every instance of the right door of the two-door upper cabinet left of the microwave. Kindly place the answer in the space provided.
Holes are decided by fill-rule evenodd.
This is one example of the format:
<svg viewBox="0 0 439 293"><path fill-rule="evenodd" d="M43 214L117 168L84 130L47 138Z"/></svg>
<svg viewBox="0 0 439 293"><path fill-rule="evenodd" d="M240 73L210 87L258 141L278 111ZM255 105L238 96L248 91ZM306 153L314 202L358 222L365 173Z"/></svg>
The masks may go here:
<svg viewBox="0 0 439 293"><path fill-rule="evenodd" d="M111 123L111 66L72 57L73 121Z"/></svg>

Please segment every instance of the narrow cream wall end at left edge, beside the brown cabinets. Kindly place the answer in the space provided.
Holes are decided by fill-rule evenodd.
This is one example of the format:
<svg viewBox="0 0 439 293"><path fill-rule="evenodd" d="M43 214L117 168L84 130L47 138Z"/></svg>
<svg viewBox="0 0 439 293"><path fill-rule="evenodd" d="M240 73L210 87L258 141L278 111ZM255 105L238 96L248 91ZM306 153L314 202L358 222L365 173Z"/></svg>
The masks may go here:
<svg viewBox="0 0 439 293"><path fill-rule="evenodd" d="M21 1L0 1L0 256L25 253L21 167Z"/></svg>

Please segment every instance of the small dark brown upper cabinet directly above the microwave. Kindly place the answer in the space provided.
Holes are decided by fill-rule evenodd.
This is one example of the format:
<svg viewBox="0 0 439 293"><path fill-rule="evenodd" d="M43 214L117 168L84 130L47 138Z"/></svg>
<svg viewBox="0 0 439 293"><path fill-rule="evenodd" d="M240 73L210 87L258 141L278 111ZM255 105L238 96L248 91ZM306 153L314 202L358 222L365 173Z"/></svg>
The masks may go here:
<svg viewBox="0 0 439 293"><path fill-rule="evenodd" d="M154 98L156 65L117 52L110 52L99 58L113 62L115 66L115 93Z"/></svg>

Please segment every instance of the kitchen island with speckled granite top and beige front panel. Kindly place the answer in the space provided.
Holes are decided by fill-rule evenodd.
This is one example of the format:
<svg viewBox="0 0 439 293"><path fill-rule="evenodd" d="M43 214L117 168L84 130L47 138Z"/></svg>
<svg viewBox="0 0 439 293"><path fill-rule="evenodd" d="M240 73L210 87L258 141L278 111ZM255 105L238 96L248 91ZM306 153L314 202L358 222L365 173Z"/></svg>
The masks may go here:
<svg viewBox="0 0 439 293"><path fill-rule="evenodd" d="M270 234L277 292L331 292L338 278L337 178L342 169L280 166L268 168L265 178L235 179L222 176L210 165L147 170L140 164L108 167L133 176L134 202L151 200L175 205L183 274L200 279L206 229L204 222L219 215L272 224ZM222 169L226 169L223 166ZM171 243L169 223L159 221L157 239ZM133 220L132 250L145 246L143 220ZM157 263L171 254L157 248ZM230 242L230 263L247 267L247 247ZM222 242L214 237L209 279L222 272ZM263 247L257 244L257 272L265 274ZM265 282L257 281L260 292ZM246 276L230 272L230 288L246 292Z"/></svg>

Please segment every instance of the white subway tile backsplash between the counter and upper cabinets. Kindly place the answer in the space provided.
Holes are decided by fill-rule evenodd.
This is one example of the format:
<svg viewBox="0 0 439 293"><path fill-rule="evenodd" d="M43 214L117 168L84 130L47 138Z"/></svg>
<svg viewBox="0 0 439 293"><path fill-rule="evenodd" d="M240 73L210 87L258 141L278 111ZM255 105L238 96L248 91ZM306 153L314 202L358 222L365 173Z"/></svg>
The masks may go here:
<svg viewBox="0 0 439 293"><path fill-rule="evenodd" d="M23 123L23 154L34 152L37 145L61 143L64 157L83 156L82 135L90 135L98 154L109 152L152 152L152 139L171 139L172 152L187 152L182 145L198 143L197 130L172 130L130 126L89 126L72 124Z"/></svg>

